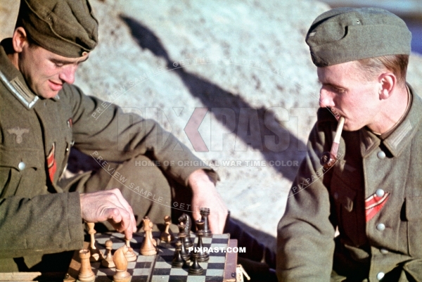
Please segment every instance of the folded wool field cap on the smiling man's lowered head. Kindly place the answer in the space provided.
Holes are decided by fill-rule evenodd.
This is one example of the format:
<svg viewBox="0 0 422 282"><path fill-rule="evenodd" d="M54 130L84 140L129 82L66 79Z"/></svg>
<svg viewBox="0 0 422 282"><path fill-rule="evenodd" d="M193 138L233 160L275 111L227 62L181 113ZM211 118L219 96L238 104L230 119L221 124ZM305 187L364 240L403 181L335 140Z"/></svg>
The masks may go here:
<svg viewBox="0 0 422 282"><path fill-rule="evenodd" d="M98 21L87 0L20 0L18 25L39 46L69 58L98 43Z"/></svg>

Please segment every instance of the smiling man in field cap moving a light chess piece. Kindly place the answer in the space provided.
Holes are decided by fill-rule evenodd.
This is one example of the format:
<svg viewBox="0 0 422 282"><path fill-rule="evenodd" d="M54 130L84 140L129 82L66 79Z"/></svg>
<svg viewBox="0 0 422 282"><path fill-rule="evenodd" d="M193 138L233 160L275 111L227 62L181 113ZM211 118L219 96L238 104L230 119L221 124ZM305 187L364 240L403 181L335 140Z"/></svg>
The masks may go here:
<svg viewBox="0 0 422 282"><path fill-rule="evenodd" d="M58 260L46 254L82 248L82 219L108 222L132 238L145 215L162 222L172 212L162 204L172 202L172 188L191 193L191 207L211 207L210 227L222 233L227 208L210 167L166 166L162 160L198 159L172 134L158 146L168 133L117 105L94 118L103 101L72 85L98 43L89 2L20 2L13 37L0 46L0 271L42 271L51 256L52 271ZM71 148L107 160L107 169L63 179ZM135 165L151 159L162 165ZM160 203L125 188L119 175ZM193 218L200 219L199 210Z"/></svg>

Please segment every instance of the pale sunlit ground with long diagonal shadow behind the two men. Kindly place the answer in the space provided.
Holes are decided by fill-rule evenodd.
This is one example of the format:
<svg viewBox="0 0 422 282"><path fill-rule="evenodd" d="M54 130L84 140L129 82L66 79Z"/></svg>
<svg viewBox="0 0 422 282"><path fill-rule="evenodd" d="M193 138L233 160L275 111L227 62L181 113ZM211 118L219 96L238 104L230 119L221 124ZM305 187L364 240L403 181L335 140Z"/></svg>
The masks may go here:
<svg viewBox="0 0 422 282"><path fill-rule="evenodd" d="M11 15L6 2L0 11ZM75 84L158 120L219 173L217 189L232 217L275 248L318 106L305 34L328 6L307 0L91 5L100 44ZM418 93L421 63L411 56L408 81ZM191 118L198 122L196 138L184 131Z"/></svg>

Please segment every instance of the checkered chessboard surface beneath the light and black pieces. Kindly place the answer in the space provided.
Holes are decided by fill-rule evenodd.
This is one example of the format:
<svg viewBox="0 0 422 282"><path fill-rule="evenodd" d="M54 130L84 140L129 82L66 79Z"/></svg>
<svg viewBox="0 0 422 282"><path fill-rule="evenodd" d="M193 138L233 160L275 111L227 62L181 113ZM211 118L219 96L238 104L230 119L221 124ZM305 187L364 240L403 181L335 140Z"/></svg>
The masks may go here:
<svg viewBox="0 0 422 282"><path fill-rule="evenodd" d="M157 234L155 234L157 235ZM159 234L158 234L159 236ZM154 236L157 240L157 255L139 255L141 243L144 233L134 233L130 242L131 247L137 256L136 261L128 262L127 271L132 276L132 282L167 282L167 281L186 281L186 282L207 282L207 281L236 281L236 262L237 254L234 252L225 252L227 247L234 248L237 241L230 239L230 234L213 234L212 237L203 237L203 246L219 250L218 252L210 252L210 259L207 262L199 262L200 267L204 269L203 274L188 274L188 265L182 268L172 267L172 259L175 251L175 240L166 243L160 241L158 236ZM198 238L191 233L192 241L196 245ZM106 250L106 241L113 242L113 250L117 250L125 243L124 235L121 233L97 233L95 236L96 246L101 252ZM87 243L87 242L86 242ZM89 243L86 244L88 248ZM77 281L79 273L79 257L77 252L72 259L68 271L68 281ZM113 281L115 274L114 268L106 268L101 262L91 262L91 268L96 275L96 282Z"/></svg>

